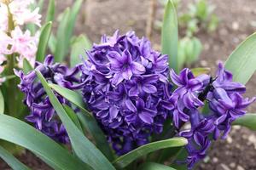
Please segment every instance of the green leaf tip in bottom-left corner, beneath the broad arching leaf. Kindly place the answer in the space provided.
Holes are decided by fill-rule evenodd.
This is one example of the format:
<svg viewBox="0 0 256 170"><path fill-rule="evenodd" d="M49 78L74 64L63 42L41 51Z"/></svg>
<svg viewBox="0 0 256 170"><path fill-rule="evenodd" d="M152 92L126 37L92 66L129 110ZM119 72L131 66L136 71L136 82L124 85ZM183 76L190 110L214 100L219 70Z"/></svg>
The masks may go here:
<svg viewBox="0 0 256 170"><path fill-rule="evenodd" d="M15 156L11 155L9 151L4 150L2 146L0 146L0 157L5 161L9 167L14 170L29 170L29 167L26 167L23 163L15 158Z"/></svg>

